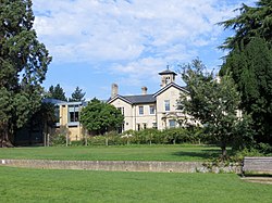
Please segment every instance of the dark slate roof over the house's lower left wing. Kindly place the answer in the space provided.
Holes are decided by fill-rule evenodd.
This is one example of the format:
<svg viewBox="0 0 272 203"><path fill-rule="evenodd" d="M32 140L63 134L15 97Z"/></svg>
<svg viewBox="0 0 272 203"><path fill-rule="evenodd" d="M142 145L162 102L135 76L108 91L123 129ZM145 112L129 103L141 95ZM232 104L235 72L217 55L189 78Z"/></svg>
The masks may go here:
<svg viewBox="0 0 272 203"><path fill-rule="evenodd" d="M141 96L116 96L111 98L108 103L113 102L116 99L121 99L126 103L129 104L144 104L144 103L154 103L156 98L153 94L141 94Z"/></svg>

